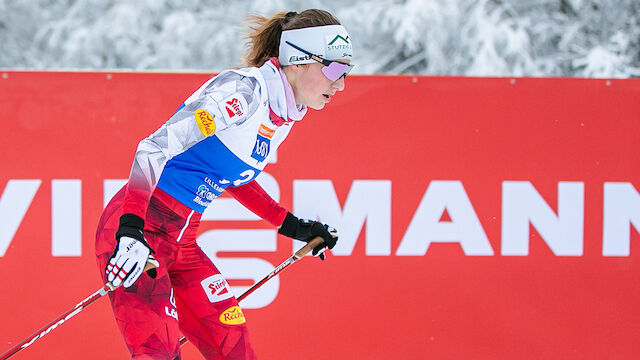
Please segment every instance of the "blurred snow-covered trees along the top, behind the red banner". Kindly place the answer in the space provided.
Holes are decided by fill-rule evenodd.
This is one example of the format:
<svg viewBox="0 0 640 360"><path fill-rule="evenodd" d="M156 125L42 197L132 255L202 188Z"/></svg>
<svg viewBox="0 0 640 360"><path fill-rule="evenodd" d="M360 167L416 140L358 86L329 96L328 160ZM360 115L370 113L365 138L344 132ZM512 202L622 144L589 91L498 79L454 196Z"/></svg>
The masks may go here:
<svg viewBox="0 0 640 360"><path fill-rule="evenodd" d="M218 72L246 15L321 8L359 74L640 76L638 0L0 0L0 68Z"/></svg>

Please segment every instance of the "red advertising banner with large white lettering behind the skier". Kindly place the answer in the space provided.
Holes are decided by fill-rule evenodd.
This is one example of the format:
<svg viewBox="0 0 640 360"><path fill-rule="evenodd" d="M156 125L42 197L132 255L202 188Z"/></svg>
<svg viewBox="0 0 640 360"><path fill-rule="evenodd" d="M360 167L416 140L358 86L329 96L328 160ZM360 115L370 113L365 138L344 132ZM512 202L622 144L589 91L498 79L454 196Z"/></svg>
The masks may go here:
<svg viewBox="0 0 640 360"><path fill-rule="evenodd" d="M0 75L4 352L101 287L105 202L209 75ZM259 179L341 234L241 304L259 358L637 359L638 99L637 79L349 77ZM198 243L236 295L294 249L228 197ZM15 359L127 356L100 299Z"/></svg>

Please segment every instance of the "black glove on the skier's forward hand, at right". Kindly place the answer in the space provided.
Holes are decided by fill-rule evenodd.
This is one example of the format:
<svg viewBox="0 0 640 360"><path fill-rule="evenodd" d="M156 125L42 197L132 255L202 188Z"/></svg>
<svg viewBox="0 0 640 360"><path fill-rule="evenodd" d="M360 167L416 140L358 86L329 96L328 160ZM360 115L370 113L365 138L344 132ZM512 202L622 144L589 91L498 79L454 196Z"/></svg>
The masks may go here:
<svg viewBox="0 0 640 360"><path fill-rule="evenodd" d="M298 219L290 212L284 218L278 233L307 243L316 238L316 236L320 236L324 242L313 249L312 254L314 256L324 247L333 249L336 246L336 241L338 241L338 231L336 229L318 221ZM324 254L320 254L320 258L324 260Z"/></svg>

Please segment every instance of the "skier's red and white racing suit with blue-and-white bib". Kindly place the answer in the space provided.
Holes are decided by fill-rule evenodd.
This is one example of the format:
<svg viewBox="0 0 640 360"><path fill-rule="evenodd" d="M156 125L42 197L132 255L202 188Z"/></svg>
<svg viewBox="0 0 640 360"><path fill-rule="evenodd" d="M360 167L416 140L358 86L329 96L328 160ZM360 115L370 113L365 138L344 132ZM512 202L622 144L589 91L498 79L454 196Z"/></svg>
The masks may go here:
<svg viewBox="0 0 640 360"><path fill-rule="evenodd" d="M160 263L155 278L143 274L109 294L133 359L179 359L180 332L207 359L256 358L242 310L196 235L202 212L224 190L272 225L282 223L287 210L254 179L305 112L272 59L210 79L140 142L129 181L96 233L105 281L125 213L145 220L144 237Z"/></svg>

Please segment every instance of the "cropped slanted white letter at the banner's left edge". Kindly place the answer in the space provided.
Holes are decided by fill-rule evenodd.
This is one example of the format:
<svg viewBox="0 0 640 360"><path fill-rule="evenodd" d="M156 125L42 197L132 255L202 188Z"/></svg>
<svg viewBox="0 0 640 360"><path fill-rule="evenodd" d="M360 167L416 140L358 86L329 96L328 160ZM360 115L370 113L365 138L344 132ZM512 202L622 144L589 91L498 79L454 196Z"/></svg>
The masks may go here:
<svg viewBox="0 0 640 360"><path fill-rule="evenodd" d="M0 257L7 252L41 182L14 179L7 182L0 197Z"/></svg>

